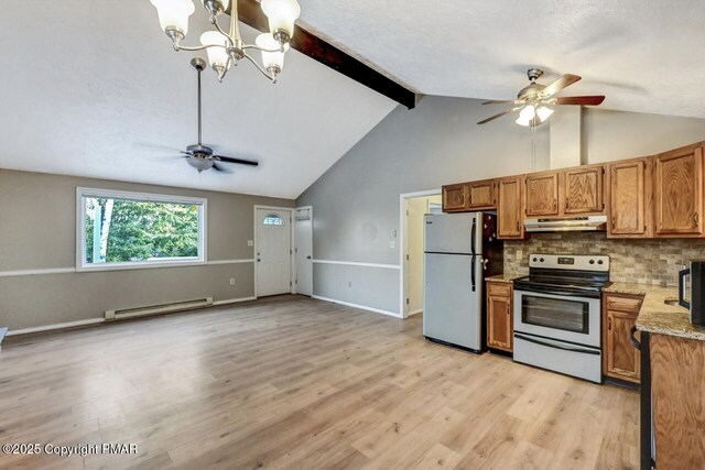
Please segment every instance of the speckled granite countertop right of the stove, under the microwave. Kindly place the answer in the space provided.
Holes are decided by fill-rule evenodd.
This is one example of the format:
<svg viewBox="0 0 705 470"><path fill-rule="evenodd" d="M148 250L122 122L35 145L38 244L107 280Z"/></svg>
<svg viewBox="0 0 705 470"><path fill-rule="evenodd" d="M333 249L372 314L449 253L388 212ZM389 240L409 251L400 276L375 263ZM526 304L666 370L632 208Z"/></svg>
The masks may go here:
<svg viewBox="0 0 705 470"><path fill-rule="evenodd" d="M660 287L648 284L614 283L603 289L616 294L643 295L643 304L637 318L637 329L659 335L705 341L705 327L691 324L690 313L677 305L676 287ZM665 304L675 300L675 305Z"/></svg>

